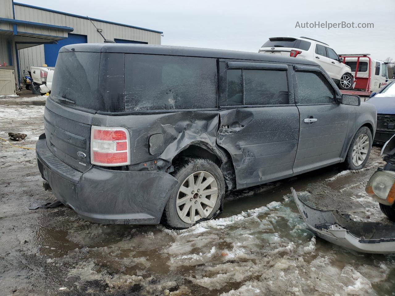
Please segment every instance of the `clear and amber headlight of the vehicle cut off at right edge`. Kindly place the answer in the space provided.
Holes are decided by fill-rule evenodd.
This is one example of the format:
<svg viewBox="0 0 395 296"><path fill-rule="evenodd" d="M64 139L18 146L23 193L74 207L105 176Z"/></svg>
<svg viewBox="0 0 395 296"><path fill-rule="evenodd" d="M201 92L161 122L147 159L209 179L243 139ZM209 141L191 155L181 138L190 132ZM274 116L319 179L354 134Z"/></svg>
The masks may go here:
<svg viewBox="0 0 395 296"><path fill-rule="evenodd" d="M378 170L375 172L368 184L366 193L374 200L392 206L395 201L395 172L389 170Z"/></svg>

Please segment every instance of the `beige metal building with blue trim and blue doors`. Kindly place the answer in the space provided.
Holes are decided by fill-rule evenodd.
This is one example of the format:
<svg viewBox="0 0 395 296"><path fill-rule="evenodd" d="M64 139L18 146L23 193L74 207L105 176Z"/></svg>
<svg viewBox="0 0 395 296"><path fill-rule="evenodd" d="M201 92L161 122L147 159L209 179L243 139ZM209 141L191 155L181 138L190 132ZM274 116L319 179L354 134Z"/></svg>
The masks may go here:
<svg viewBox="0 0 395 296"><path fill-rule="evenodd" d="M107 39L117 43L161 43L161 31L90 19ZM81 15L1 0L0 95L9 94L10 89L15 93L23 70L43 64L55 66L60 47L103 42L92 22Z"/></svg>

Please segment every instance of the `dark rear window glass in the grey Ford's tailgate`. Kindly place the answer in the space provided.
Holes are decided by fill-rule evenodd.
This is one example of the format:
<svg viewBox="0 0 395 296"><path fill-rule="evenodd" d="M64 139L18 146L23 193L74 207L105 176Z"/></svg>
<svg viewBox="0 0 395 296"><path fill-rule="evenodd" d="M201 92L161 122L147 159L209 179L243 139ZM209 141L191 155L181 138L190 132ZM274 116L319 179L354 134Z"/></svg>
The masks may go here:
<svg viewBox="0 0 395 296"><path fill-rule="evenodd" d="M60 103L97 110L100 52L60 52L51 97Z"/></svg>

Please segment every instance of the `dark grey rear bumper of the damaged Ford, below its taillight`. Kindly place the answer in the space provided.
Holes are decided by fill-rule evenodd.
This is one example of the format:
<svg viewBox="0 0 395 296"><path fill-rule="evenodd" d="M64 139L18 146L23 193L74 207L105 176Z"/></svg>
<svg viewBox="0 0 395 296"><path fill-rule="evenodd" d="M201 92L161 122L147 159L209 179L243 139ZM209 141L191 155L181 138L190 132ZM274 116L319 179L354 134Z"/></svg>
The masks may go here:
<svg viewBox="0 0 395 296"><path fill-rule="evenodd" d="M177 180L166 172L91 167L79 172L60 161L45 139L36 144L41 176L79 216L105 224L158 224Z"/></svg>

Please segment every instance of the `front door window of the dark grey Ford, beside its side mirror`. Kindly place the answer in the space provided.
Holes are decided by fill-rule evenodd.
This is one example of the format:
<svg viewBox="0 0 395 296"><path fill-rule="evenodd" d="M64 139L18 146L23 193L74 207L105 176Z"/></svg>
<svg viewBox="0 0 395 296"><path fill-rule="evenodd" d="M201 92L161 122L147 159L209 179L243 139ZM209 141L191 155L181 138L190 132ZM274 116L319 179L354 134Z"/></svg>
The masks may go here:
<svg viewBox="0 0 395 296"><path fill-rule="evenodd" d="M296 80L299 104L335 103L335 91L322 73L297 71Z"/></svg>

